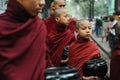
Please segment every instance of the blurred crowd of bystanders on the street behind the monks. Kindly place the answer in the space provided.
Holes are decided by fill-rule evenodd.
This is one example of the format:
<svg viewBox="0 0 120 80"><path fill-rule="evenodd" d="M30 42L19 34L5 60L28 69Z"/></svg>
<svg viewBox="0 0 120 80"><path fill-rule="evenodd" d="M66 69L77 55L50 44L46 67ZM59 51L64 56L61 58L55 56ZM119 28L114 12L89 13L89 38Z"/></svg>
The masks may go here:
<svg viewBox="0 0 120 80"><path fill-rule="evenodd" d="M96 37L101 38L101 42L108 41L111 52L115 48L118 40L114 29L116 23L119 21L119 19L115 18L116 15L119 16L117 13L90 21L91 25L93 26L93 33L96 35Z"/></svg>

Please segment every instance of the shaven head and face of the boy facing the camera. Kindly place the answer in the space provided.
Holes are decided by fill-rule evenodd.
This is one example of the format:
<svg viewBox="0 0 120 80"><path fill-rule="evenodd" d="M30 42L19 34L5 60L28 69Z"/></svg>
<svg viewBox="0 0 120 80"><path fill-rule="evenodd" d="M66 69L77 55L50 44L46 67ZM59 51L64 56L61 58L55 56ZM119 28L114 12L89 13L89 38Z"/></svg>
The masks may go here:
<svg viewBox="0 0 120 80"><path fill-rule="evenodd" d="M80 22L77 33L84 39L90 39L92 34L92 28L89 21Z"/></svg>

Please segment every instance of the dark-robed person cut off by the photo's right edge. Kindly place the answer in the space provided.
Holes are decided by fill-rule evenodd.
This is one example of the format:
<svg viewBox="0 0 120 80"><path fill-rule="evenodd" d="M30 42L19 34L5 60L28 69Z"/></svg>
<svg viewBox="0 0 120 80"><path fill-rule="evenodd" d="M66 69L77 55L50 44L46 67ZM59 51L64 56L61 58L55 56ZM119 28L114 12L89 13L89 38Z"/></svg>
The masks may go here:
<svg viewBox="0 0 120 80"><path fill-rule="evenodd" d="M115 33L118 42L111 55L110 80L120 80L120 21L115 25Z"/></svg>

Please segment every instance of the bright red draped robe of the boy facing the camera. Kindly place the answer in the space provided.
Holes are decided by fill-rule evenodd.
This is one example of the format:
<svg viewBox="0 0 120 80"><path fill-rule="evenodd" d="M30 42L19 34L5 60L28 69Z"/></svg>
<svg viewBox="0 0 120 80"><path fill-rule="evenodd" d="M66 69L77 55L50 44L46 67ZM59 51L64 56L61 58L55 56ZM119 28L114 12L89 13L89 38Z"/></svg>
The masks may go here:
<svg viewBox="0 0 120 80"><path fill-rule="evenodd" d="M68 52L68 64L76 67L80 76L83 76L82 66L86 61L100 57L97 45L93 41L83 40L80 36L70 45Z"/></svg>

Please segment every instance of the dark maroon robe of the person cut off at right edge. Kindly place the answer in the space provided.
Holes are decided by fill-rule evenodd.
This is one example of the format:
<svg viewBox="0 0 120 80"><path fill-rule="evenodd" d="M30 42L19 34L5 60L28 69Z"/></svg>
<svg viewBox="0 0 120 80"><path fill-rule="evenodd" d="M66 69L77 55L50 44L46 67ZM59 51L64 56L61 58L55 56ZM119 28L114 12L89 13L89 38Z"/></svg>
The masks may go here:
<svg viewBox="0 0 120 80"><path fill-rule="evenodd" d="M111 55L110 80L120 80L120 42Z"/></svg>

